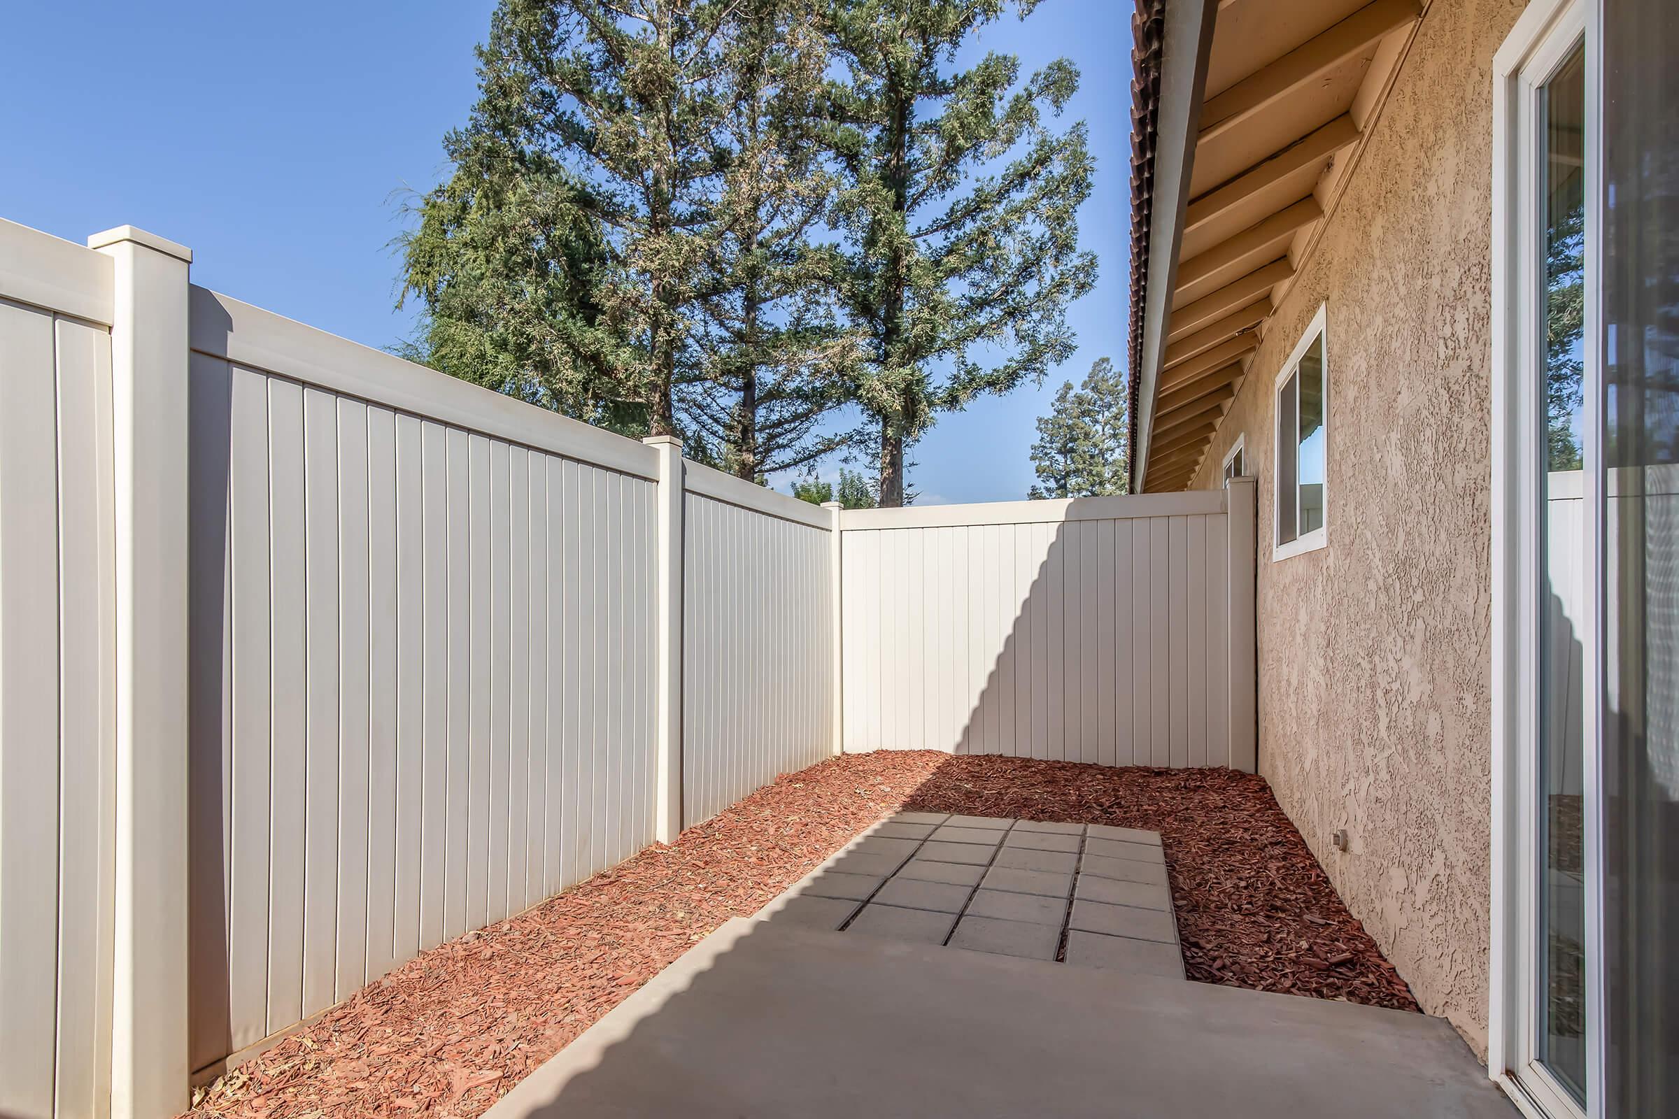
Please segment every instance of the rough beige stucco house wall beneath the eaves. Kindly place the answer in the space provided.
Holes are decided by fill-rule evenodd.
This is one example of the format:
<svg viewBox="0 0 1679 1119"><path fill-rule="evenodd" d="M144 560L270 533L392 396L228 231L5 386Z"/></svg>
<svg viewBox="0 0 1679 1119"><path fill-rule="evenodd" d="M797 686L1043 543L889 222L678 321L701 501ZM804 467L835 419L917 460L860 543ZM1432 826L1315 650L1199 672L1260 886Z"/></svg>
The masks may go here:
<svg viewBox="0 0 1679 1119"><path fill-rule="evenodd" d="M1436 0L1195 485L1259 476L1259 770L1429 1013L1484 1057L1491 64L1518 0ZM1271 559L1273 384L1328 304L1328 545ZM1330 844L1345 827L1350 849Z"/></svg>

